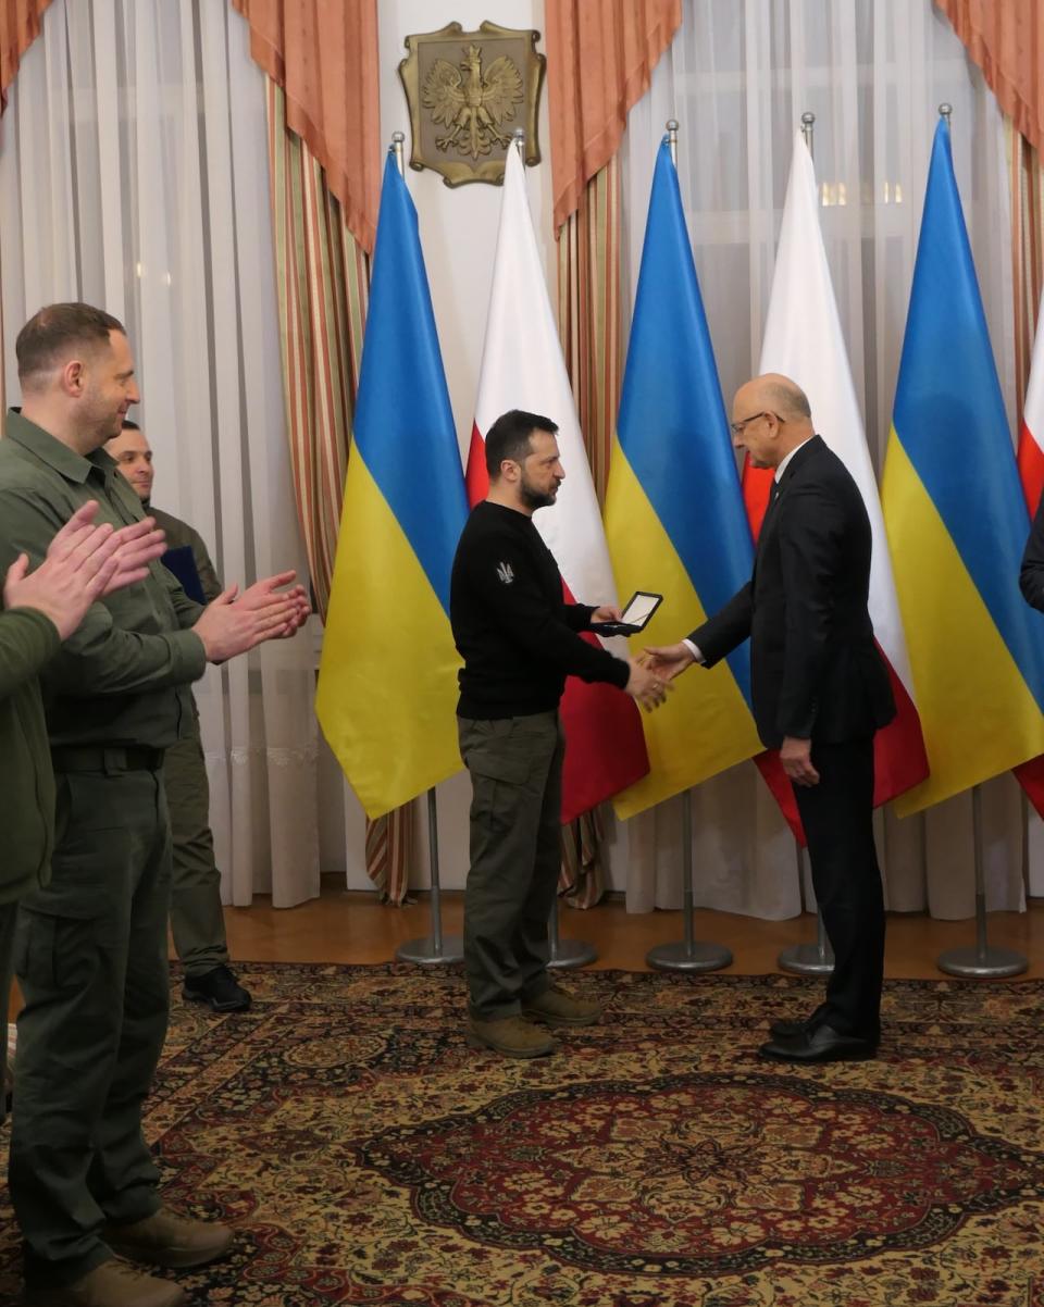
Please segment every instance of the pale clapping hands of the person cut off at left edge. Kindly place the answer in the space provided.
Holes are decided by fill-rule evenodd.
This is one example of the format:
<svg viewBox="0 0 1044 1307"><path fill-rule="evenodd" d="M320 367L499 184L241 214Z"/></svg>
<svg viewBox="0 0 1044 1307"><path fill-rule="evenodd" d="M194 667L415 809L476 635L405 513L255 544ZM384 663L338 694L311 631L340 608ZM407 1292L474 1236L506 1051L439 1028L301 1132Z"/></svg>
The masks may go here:
<svg viewBox="0 0 1044 1307"><path fill-rule="evenodd" d="M35 608L54 622L65 640L97 599L120 584L129 584L131 579L140 579L132 572L124 579L120 554L124 548L140 550L150 524L136 523L135 528L129 528L136 535L128 542L124 532L114 531L108 523L91 525L97 511L94 501L77 508L31 575L26 554L14 559L4 580L4 608Z"/></svg>

